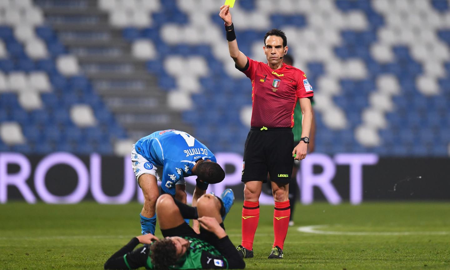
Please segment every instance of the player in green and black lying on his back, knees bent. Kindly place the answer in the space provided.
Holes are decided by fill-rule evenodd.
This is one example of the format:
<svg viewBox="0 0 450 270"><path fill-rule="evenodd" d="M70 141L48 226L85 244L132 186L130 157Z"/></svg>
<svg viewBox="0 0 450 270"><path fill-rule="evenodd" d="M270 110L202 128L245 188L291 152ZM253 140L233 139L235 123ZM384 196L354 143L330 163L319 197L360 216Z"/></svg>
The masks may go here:
<svg viewBox="0 0 450 270"><path fill-rule="evenodd" d="M156 213L164 236L139 235L106 261L105 269L244 269L245 262L225 233L223 221L234 201L231 189L220 198L204 194L190 207L168 194L157 199ZM197 219L200 234L183 219ZM143 247L134 249L139 243Z"/></svg>

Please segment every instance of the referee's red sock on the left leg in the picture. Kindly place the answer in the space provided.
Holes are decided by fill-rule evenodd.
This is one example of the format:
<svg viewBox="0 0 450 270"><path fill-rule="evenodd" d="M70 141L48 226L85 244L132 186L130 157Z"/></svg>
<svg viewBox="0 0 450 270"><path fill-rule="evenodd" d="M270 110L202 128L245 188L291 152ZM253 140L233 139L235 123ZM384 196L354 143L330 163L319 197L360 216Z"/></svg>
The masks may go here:
<svg viewBox="0 0 450 270"><path fill-rule="evenodd" d="M244 206L242 207L241 245L247 248L248 250L252 250L253 248L253 239L255 238L255 232L256 228L258 227L258 221L259 221L259 202L244 201ZM286 237L286 234L284 234L284 237Z"/></svg>

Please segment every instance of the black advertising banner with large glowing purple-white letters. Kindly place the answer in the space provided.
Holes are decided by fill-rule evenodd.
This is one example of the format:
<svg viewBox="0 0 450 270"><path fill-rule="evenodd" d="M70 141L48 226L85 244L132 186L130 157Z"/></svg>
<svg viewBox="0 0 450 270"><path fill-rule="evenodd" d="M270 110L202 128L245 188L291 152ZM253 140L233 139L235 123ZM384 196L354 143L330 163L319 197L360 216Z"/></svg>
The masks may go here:
<svg viewBox="0 0 450 270"><path fill-rule="evenodd" d="M207 192L226 188L243 199L242 155L217 153L225 180ZM450 158L378 157L372 153L309 154L297 174L300 201L326 200L332 204L365 200L450 200ZM186 178L188 202L195 177ZM0 153L0 203L143 202L131 169L130 157L76 156L58 152L46 156ZM261 204L273 204L264 190Z"/></svg>

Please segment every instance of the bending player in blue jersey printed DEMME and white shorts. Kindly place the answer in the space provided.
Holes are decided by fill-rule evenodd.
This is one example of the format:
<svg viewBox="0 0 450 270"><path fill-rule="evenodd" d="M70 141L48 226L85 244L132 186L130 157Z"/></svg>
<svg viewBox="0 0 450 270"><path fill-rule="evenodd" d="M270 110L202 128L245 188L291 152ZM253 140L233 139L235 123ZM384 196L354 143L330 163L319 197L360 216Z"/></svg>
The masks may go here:
<svg viewBox="0 0 450 270"><path fill-rule="evenodd" d="M144 207L140 213L142 234L155 234L157 181L161 181L162 193L186 203L184 177L197 175L192 198L192 206L196 206L208 184L219 183L225 178L225 171L216 163L214 154L193 136L179 130L156 131L139 139L131 150L131 162L144 194ZM194 228L198 230L197 222L194 222Z"/></svg>

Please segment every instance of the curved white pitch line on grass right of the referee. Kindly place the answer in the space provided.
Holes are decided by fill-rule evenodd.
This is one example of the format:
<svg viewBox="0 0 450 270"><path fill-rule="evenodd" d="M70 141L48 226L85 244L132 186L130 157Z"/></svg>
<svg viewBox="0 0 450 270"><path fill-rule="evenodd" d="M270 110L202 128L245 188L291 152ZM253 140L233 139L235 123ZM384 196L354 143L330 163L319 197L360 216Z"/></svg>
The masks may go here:
<svg viewBox="0 0 450 270"><path fill-rule="evenodd" d="M320 228L329 227L329 225L312 225L312 226L301 226L297 230L302 233L307 234L331 234L331 235L445 235L450 234L446 231L436 231L436 232L340 232L340 231L324 231Z"/></svg>

